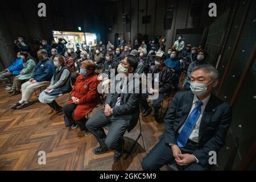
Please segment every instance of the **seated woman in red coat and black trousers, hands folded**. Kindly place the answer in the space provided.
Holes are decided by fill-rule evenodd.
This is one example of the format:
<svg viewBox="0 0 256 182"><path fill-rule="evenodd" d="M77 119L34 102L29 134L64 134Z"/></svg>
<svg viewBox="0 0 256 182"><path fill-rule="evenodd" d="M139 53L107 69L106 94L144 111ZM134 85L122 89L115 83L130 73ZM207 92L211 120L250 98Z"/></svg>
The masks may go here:
<svg viewBox="0 0 256 182"><path fill-rule="evenodd" d="M77 125L81 131L85 131L85 136L90 132L86 129L86 115L89 114L100 101L97 87L100 81L96 73L96 64L91 60L82 61L80 75L71 92L71 101L63 107L64 114L71 122L71 129L76 129Z"/></svg>

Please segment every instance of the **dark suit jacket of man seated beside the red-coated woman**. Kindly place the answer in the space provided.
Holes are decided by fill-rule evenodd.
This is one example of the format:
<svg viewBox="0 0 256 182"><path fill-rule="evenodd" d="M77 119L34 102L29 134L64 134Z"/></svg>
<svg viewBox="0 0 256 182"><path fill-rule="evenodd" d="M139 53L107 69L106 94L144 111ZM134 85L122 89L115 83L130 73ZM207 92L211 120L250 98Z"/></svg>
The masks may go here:
<svg viewBox="0 0 256 182"><path fill-rule="evenodd" d="M135 92L135 90L139 89L140 83L133 84L133 88L130 88L134 90L134 93L121 93L121 102L120 106L114 106L113 107L113 115L112 117L120 118L122 120L125 120L127 122L130 122L130 126L128 127L128 132L130 132L136 125L139 119L139 97L141 96L140 93ZM115 86L117 85L117 82ZM130 85L129 85L130 86ZM127 89L128 91L129 89ZM105 104L112 105L114 93L109 93Z"/></svg>

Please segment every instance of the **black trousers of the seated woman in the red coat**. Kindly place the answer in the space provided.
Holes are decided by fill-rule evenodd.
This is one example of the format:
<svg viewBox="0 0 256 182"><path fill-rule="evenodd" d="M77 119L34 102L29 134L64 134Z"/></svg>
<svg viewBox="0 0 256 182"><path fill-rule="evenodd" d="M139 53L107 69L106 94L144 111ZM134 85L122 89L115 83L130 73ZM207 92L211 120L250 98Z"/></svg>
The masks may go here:
<svg viewBox="0 0 256 182"><path fill-rule="evenodd" d="M65 105L65 106L63 107L64 114L65 114L65 116L68 118L68 120L72 123L72 125L73 125L74 123L77 123L77 125L79 126L79 128L80 128L81 131L88 131L88 129L87 129L86 126L85 126L85 123L86 123L86 121L87 121L87 118L86 118L86 117L84 117L84 119L81 119L81 120L79 120L79 121L75 121L75 119L73 119L76 106L77 106L77 105L74 104L74 103Z"/></svg>

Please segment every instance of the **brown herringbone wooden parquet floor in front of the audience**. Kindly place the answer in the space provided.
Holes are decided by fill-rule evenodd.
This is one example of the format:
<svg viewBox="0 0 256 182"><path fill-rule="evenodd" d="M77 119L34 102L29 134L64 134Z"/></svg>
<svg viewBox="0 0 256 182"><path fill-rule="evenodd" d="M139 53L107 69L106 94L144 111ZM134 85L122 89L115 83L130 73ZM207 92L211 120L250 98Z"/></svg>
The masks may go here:
<svg viewBox="0 0 256 182"><path fill-rule="evenodd" d="M48 115L49 107L36 101L22 110L11 110L10 107L20 100L21 94L10 96L5 87L0 85L0 170L141 170L141 162L146 152L158 142L163 133L163 124L155 122L149 115L141 117L142 139L128 159L113 162L114 152L95 155L97 140L90 135L84 137L79 129L65 127L63 114ZM57 98L64 106L68 94ZM166 109L167 100L164 101ZM89 115L101 109L98 107ZM130 146L139 133L139 125L125 134L126 146ZM38 152L46 152L46 165L38 164ZM163 169L165 169L163 167ZM167 168L166 168L167 169Z"/></svg>

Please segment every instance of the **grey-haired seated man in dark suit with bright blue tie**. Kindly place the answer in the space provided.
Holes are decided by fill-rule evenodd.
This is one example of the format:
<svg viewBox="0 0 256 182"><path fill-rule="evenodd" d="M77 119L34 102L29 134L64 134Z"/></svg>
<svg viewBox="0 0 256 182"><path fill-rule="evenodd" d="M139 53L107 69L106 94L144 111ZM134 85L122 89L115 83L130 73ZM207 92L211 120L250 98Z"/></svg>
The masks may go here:
<svg viewBox="0 0 256 182"><path fill-rule="evenodd" d="M142 161L144 170L175 162L184 170L208 170L210 151L225 144L232 109L211 93L218 71L199 65L192 71L191 91L178 92L164 118L164 134Z"/></svg>

